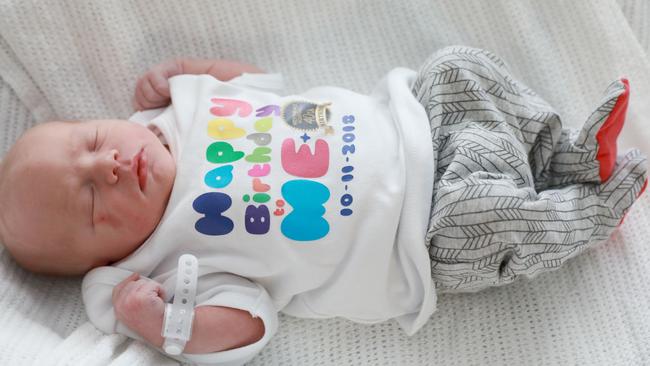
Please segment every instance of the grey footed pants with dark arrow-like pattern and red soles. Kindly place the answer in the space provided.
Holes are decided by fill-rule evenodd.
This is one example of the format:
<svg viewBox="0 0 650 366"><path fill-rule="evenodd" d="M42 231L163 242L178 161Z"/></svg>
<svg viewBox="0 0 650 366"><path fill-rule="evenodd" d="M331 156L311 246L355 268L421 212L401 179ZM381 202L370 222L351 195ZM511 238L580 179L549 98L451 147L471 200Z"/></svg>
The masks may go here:
<svg viewBox="0 0 650 366"><path fill-rule="evenodd" d="M438 51L413 93L433 137L426 240L438 292L557 269L607 239L645 187L638 150L616 159L626 80L609 86L580 131L562 129L548 103L484 50Z"/></svg>

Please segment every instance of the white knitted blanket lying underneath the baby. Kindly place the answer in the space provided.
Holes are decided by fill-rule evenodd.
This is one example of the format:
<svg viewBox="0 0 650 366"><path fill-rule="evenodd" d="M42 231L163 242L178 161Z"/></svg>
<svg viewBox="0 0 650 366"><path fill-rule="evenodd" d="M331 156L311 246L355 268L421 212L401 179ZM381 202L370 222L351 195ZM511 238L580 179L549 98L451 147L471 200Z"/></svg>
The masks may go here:
<svg viewBox="0 0 650 366"><path fill-rule="evenodd" d="M623 146L650 154L649 15L646 0L3 0L0 154L34 121L129 116L136 77L177 55L251 62L283 73L289 92L367 92L449 44L499 54L572 127L627 76ZM442 296L413 337L393 322L282 316L251 364L650 364L648 197L611 240L556 272ZM27 273L2 251L0 291L2 365L176 364L89 324L79 279Z"/></svg>

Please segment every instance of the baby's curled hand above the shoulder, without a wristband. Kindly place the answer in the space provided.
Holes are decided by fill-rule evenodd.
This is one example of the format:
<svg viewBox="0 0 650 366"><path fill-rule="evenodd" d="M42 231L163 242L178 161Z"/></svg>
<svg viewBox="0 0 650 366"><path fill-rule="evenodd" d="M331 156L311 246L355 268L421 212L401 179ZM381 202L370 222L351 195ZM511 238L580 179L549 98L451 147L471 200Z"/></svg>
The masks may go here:
<svg viewBox="0 0 650 366"><path fill-rule="evenodd" d="M133 98L136 111L165 107L169 104L169 79L183 73L180 59L171 59L152 67L138 79Z"/></svg>

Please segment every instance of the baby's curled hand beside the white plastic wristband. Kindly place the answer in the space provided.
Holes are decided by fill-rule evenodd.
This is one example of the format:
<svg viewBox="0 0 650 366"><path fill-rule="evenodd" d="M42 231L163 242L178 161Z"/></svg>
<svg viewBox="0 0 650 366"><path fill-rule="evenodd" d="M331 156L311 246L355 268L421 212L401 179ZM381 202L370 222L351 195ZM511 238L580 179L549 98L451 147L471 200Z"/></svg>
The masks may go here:
<svg viewBox="0 0 650 366"><path fill-rule="evenodd" d="M160 347L165 314L164 290L153 280L133 273L113 288L115 316L149 343Z"/></svg>

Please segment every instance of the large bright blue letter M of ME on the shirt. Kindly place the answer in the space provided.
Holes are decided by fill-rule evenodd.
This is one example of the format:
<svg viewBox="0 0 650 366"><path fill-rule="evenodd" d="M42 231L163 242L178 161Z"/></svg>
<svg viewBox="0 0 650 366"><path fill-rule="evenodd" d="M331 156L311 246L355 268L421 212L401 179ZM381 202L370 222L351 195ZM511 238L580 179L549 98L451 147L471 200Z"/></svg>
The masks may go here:
<svg viewBox="0 0 650 366"><path fill-rule="evenodd" d="M280 225L284 236L309 241L327 235L330 226L323 218L323 204L329 199L330 191L326 186L311 180L290 180L282 185L282 196L293 207Z"/></svg>

